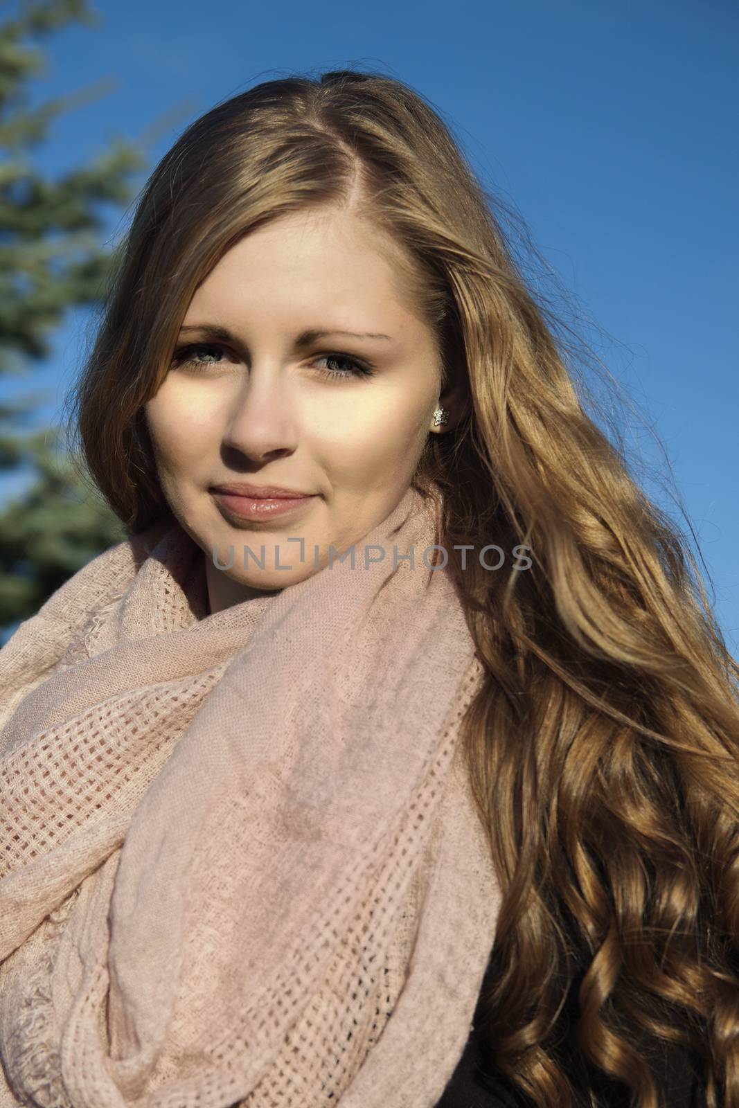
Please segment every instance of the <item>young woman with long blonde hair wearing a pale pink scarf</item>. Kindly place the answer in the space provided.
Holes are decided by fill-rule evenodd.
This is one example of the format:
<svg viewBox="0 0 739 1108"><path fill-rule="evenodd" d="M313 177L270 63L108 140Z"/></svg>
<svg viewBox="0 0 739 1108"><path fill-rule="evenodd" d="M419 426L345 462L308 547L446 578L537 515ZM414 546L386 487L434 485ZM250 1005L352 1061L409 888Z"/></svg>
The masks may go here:
<svg viewBox="0 0 739 1108"><path fill-rule="evenodd" d="M0 1106L739 1108L739 667L439 115L197 120L0 652Z"/></svg>

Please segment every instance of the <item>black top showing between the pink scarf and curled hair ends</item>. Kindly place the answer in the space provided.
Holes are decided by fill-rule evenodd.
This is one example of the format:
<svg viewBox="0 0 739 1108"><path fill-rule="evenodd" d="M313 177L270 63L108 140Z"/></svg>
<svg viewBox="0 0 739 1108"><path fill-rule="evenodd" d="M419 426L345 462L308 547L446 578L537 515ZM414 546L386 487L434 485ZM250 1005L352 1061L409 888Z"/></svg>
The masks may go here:
<svg viewBox="0 0 739 1108"><path fill-rule="evenodd" d="M573 1008L576 1015L575 992L571 988L565 1004L571 1027ZM535 1108L535 1101L531 1097L492 1067L480 1038L479 1014L480 1003L464 1053L435 1108ZM567 1057L572 1059L571 1054ZM707 1108L706 1094L702 1091L705 1079L694 1055L673 1044L649 1040L643 1047L643 1057L654 1074L657 1090L668 1108ZM573 1065L567 1066L567 1074L575 1081L575 1089L592 1089L599 1108L630 1108L632 1094L627 1085L584 1060L581 1070L585 1076L575 1079ZM583 1099L581 1102L586 1104L587 1100Z"/></svg>

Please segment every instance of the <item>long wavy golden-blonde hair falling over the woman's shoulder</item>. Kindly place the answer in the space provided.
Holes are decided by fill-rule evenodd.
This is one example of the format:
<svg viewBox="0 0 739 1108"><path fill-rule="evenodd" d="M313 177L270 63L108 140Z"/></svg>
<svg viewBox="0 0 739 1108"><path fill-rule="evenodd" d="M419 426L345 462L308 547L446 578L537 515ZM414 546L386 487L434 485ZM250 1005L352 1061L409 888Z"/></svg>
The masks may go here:
<svg viewBox="0 0 739 1108"><path fill-rule="evenodd" d="M289 76L183 133L140 198L75 388L83 464L131 533L167 512L143 406L195 289L240 236L327 206L398 244L444 380L466 382L465 418L429 435L414 480L445 491L486 669L463 741L503 891L490 1064L567 1108L583 1101L566 1042L656 1108L642 1044L668 1039L700 1060L710 1108L739 1108L739 666L686 541L586 414L554 316L420 94L353 70ZM462 567L454 544L490 542L526 544L532 568Z"/></svg>

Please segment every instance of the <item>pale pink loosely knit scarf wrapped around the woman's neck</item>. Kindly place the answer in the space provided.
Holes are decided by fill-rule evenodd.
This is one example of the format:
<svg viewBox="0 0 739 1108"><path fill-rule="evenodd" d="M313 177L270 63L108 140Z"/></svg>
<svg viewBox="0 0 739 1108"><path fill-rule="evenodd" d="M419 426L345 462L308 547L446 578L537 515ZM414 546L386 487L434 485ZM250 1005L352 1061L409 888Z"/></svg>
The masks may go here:
<svg viewBox="0 0 739 1108"><path fill-rule="evenodd" d="M0 650L0 1108L435 1104L499 909L437 521L208 615L170 520Z"/></svg>

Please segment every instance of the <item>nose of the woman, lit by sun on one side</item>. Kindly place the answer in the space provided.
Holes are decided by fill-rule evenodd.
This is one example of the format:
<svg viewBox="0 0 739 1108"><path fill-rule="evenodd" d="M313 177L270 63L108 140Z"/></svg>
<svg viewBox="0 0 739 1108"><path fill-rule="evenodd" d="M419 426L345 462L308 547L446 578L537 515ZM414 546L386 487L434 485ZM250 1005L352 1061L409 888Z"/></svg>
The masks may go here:
<svg viewBox="0 0 739 1108"><path fill-rule="evenodd" d="M252 366L234 397L223 437L225 453L253 462L291 454L298 444L295 398L278 367Z"/></svg>

